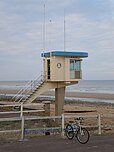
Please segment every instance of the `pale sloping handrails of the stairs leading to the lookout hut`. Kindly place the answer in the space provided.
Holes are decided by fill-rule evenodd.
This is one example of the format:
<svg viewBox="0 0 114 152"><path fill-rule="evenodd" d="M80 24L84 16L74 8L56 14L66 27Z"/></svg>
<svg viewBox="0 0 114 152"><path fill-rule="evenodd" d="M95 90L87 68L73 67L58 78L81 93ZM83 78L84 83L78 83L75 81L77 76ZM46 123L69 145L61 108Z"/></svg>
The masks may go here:
<svg viewBox="0 0 114 152"><path fill-rule="evenodd" d="M35 82L37 82L36 85L34 85ZM18 102L20 102L25 97L25 95L27 95L31 91L30 90L31 86L34 85L34 88L35 88L40 82L44 82L44 75L42 74L38 78L34 79L33 81L27 82L27 84L21 90L19 90L16 95L13 96L12 100L16 98L14 102L17 102L17 100L19 99L19 96L24 95L19 99Z"/></svg>

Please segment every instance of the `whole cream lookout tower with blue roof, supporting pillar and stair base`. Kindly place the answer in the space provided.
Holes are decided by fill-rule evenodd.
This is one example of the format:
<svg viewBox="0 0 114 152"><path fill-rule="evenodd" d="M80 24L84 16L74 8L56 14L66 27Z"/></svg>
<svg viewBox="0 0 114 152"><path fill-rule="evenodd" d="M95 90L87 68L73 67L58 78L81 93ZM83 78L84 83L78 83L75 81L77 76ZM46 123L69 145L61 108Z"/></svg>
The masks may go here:
<svg viewBox="0 0 114 152"><path fill-rule="evenodd" d="M55 115L63 113L65 87L76 84L82 79L82 59L88 57L86 52L51 51L42 53L44 62L43 76L33 92L24 102L31 103L40 94L55 89Z"/></svg>

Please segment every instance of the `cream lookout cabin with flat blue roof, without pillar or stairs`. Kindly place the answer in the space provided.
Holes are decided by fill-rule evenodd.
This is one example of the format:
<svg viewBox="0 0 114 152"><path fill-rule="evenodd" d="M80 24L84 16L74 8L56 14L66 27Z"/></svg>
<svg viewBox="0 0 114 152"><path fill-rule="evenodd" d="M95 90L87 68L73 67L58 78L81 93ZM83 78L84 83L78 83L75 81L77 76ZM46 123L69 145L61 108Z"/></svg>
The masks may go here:
<svg viewBox="0 0 114 152"><path fill-rule="evenodd" d="M42 57L46 82L72 84L82 79L81 61L88 53L53 51L42 53Z"/></svg>

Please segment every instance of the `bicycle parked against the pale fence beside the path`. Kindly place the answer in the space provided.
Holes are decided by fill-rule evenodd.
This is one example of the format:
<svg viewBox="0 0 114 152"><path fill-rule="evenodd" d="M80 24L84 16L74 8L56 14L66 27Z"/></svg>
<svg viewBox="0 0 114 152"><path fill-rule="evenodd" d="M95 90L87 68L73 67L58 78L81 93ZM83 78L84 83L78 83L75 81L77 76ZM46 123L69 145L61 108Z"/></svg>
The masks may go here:
<svg viewBox="0 0 114 152"><path fill-rule="evenodd" d="M74 136L81 144L86 144L89 141L89 132L86 128L81 126L81 120L83 118L75 118L74 122L70 122L65 129L66 136L69 140L72 140Z"/></svg>

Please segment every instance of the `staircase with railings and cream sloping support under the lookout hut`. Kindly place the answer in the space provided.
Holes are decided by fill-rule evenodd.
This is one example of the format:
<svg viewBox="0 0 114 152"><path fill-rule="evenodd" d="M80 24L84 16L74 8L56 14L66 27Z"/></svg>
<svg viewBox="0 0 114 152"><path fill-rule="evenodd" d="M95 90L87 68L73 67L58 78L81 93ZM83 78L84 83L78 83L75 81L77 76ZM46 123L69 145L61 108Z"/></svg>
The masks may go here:
<svg viewBox="0 0 114 152"><path fill-rule="evenodd" d="M12 100L17 103L31 103L43 92L49 89L61 88L66 85L70 84L64 82L46 82L44 75L41 75L34 81L29 81L15 96L13 96Z"/></svg>

